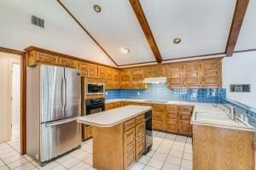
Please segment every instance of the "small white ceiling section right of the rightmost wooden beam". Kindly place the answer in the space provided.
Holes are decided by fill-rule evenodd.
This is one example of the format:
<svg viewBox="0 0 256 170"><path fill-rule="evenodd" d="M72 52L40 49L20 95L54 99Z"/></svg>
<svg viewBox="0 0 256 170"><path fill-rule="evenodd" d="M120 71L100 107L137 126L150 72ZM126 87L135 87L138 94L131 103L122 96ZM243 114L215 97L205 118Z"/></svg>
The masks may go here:
<svg viewBox="0 0 256 170"><path fill-rule="evenodd" d="M256 50L256 1L249 1L235 51Z"/></svg>

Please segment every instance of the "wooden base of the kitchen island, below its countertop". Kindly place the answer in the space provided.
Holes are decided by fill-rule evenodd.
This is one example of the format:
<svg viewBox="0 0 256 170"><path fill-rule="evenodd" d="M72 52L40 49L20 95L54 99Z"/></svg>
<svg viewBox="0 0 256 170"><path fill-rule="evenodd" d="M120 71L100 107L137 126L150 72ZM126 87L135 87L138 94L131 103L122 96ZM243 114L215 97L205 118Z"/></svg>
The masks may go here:
<svg viewBox="0 0 256 170"><path fill-rule="evenodd" d="M144 114L113 127L93 129L93 167L98 170L128 169L144 151Z"/></svg>

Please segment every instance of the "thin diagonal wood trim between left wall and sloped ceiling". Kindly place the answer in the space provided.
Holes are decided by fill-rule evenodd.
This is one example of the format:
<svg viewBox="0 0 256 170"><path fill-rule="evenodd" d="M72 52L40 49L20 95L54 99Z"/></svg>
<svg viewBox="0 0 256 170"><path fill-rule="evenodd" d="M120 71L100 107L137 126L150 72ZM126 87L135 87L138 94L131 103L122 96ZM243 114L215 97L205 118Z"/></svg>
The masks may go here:
<svg viewBox="0 0 256 170"><path fill-rule="evenodd" d="M101 44L100 44L99 42L97 42L94 37L91 36L90 32L87 31L87 30L84 28L84 26L79 22L79 20L77 20L77 19L75 18L75 16L67 9L67 7L66 7L63 3L61 3L61 0L57 0L57 2L60 3L61 7L66 10L67 14L69 14L69 15L73 18L73 20L76 21L76 23L77 23L77 24L83 29L83 31L96 43L96 45L97 45L99 48L102 49L103 53L106 54L106 55L108 56L108 58L113 61L114 65L119 66L119 65L112 59L112 57L108 54L108 52L107 52L104 48L102 48Z"/></svg>

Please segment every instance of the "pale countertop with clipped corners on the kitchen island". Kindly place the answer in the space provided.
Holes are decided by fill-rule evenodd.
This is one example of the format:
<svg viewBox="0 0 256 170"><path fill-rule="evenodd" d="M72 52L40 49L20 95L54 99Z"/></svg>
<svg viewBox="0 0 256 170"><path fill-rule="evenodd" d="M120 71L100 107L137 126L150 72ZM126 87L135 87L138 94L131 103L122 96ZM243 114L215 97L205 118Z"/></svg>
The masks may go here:
<svg viewBox="0 0 256 170"><path fill-rule="evenodd" d="M150 106L126 105L109 111L102 111L97 114L80 116L77 122L95 127L113 127L120 122L125 122L133 117L152 110Z"/></svg>

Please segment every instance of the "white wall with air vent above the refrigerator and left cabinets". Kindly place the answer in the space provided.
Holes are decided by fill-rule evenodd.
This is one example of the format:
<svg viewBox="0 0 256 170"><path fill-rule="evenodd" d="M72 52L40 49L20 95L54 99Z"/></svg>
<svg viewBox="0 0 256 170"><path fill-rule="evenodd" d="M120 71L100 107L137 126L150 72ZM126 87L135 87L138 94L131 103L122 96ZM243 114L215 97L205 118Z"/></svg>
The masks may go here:
<svg viewBox="0 0 256 170"><path fill-rule="evenodd" d="M44 19L44 29L31 24L32 14ZM56 0L1 0L0 23L0 47L33 45L113 65Z"/></svg>

